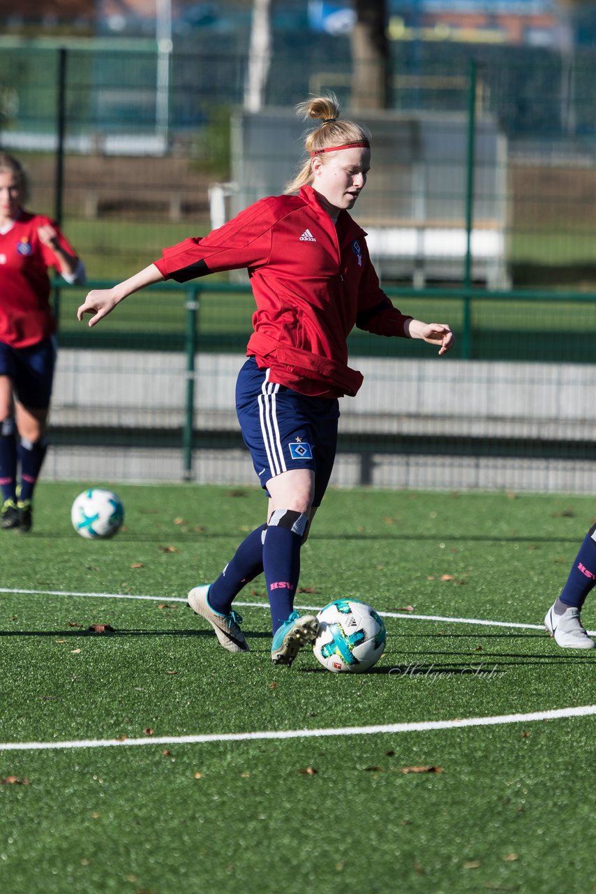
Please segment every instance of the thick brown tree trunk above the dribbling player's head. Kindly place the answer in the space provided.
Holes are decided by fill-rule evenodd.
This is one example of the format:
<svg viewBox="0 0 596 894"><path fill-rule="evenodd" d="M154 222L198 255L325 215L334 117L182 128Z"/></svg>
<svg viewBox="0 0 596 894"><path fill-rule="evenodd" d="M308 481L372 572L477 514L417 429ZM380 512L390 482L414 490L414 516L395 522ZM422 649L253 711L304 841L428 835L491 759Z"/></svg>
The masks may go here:
<svg viewBox="0 0 596 894"><path fill-rule="evenodd" d="M354 0L357 21L352 30L353 110L386 108L390 48L385 0Z"/></svg>

